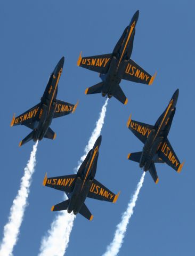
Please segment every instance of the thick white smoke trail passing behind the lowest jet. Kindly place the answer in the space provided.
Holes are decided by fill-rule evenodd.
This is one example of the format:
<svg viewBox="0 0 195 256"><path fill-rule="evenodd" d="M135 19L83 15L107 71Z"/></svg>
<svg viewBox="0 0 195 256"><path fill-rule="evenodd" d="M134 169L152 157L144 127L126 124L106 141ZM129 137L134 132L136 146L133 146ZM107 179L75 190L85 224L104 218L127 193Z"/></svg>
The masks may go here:
<svg viewBox="0 0 195 256"><path fill-rule="evenodd" d="M96 139L99 137L102 126L104 124L105 113L107 110L108 99L105 101L99 119L96 122L95 129L92 132L90 140L84 150L84 155L80 158L78 166L74 169L75 173L78 171L80 164L84 161L88 151L93 147ZM64 200L68 199L67 196ZM39 256L63 256L68 247L70 233L74 224L75 215L69 214L67 211L58 212L56 218L51 224L50 230L47 230L46 235L42 238L40 244Z"/></svg>

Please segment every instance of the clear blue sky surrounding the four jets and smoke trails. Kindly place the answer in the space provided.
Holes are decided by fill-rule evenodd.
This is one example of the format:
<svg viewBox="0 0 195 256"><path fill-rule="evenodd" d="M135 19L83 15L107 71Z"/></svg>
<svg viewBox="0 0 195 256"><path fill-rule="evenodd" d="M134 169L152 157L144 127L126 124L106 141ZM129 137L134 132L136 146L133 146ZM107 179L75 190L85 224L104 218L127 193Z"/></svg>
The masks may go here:
<svg viewBox="0 0 195 256"><path fill-rule="evenodd" d="M100 82L96 73L76 66L78 55L111 53L134 12L139 9L132 59L150 74L152 86L122 81L128 98L123 106L109 100L96 179L114 192L116 204L87 199L94 215L89 222L77 216L67 255L101 255L111 242L121 213L140 180L138 164L127 161L128 153L142 150L141 141L129 131L132 119L154 124L174 91L179 88L176 113L168 138L182 162L177 174L157 165L159 183L145 175L133 217L119 255L193 255L194 253L194 1L2 1L1 21L1 221L0 234L17 194L32 141L19 148L30 132L10 127L13 113L36 105L48 76L64 55L58 99L80 103L72 115L55 119L54 141L40 141L29 206L20 229L14 255L37 255L40 239L54 218L51 206L61 191L42 186L45 172L51 176L73 172L94 129L105 101L101 95L85 95L86 87Z"/></svg>

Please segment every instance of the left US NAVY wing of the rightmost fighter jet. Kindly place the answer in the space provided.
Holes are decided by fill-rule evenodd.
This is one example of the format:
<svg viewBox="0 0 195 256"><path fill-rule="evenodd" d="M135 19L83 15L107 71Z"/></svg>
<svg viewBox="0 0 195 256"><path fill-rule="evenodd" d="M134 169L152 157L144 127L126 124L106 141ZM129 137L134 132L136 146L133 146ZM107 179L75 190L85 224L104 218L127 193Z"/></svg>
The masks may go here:
<svg viewBox="0 0 195 256"><path fill-rule="evenodd" d="M131 115L129 116L129 119L127 121L127 127L143 143L145 143L145 141L147 140L148 136L150 135L153 129L153 125L144 124L144 123L132 120Z"/></svg>

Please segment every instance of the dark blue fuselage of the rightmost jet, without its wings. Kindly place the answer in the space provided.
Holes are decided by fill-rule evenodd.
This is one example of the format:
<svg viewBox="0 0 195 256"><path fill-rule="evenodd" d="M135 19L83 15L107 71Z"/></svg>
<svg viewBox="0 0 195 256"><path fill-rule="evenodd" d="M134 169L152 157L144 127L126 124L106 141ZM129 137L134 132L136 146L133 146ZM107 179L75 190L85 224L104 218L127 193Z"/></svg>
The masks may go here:
<svg viewBox="0 0 195 256"><path fill-rule="evenodd" d="M142 155L140 158L140 167L143 167L144 171L148 171L158 149L163 144L164 140L172 125L173 117L175 114L175 106L178 98L178 90L173 94L172 99L169 102L168 107L164 113L158 118L154 129L152 129L145 145L143 147Z"/></svg>

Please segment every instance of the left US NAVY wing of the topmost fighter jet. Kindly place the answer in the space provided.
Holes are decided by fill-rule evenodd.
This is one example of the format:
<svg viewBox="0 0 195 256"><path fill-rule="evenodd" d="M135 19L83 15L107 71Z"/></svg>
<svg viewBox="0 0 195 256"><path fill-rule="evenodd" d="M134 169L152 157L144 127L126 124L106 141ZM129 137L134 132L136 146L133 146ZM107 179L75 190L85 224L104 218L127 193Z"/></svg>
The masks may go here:
<svg viewBox="0 0 195 256"><path fill-rule="evenodd" d="M80 53L77 66L87 68L101 74L106 74L108 72L111 58L112 54L103 54L82 58Z"/></svg>

